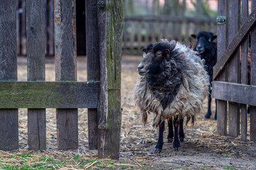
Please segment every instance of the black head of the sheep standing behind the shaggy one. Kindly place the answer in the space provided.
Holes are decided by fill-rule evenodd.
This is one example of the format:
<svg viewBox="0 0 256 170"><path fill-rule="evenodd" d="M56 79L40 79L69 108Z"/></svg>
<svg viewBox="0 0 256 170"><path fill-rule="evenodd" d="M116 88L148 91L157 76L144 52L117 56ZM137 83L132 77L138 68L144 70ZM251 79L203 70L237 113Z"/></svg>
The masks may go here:
<svg viewBox="0 0 256 170"><path fill-rule="evenodd" d="M195 51L197 51L199 54L203 54L203 52L206 52L211 49L211 43L215 38L217 38L217 35L213 35L213 33L201 31L197 35L191 35L193 38L196 38L196 47Z"/></svg>

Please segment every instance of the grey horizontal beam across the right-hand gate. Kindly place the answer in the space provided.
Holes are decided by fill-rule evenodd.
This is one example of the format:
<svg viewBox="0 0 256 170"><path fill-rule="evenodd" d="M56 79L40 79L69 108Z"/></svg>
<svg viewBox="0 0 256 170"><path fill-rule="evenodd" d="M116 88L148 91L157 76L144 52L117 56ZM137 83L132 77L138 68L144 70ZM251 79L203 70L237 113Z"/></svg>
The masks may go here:
<svg viewBox="0 0 256 170"><path fill-rule="evenodd" d="M213 81L213 98L256 106L256 86Z"/></svg>

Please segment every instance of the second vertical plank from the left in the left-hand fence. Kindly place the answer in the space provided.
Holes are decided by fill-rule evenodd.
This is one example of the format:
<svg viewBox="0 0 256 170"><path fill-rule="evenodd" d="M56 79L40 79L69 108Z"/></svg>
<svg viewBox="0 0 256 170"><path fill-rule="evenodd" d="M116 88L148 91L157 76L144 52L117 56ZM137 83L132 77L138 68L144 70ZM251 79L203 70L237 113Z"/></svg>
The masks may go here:
<svg viewBox="0 0 256 170"><path fill-rule="evenodd" d="M46 1L26 1L28 81L46 80ZM46 109L28 109L28 149L46 149Z"/></svg>

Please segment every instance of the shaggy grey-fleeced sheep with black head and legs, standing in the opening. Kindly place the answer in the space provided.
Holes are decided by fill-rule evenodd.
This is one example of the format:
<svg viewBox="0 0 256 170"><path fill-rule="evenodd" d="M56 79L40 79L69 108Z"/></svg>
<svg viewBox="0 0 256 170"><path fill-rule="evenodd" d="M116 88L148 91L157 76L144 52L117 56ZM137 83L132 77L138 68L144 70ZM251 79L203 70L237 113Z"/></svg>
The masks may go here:
<svg viewBox="0 0 256 170"><path fill-rule="evenodd" d="M153 126L159 127L155 152L161 152L164 145L165 120L169 124L168 142L174 136L173 147L178 151L184 138L183 118L186 118L186 124L189 120L193 124L196 114L203 110L203 99L208 94L209 79L203 60L174 40L149 44L142 51L144 59L137 68L139 75L134 87L134 101L142 113L144 125L150 113L155 115Z"/></svg>

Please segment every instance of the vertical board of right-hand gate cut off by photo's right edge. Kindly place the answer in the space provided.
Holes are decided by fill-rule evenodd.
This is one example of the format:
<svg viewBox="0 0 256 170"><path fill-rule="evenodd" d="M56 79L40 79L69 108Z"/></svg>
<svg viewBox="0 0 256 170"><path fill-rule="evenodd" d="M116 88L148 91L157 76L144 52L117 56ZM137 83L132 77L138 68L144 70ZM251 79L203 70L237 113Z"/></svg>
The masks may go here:
<svg viewBox="0 0 256 170"><path fill-rule="evenodd" d="M252 1L252 8L256 7L256 1ZM256 85L256 28L251 32L251 74L250 84ZM250 140L256 142L256 107L250 106Z"/></svg>

